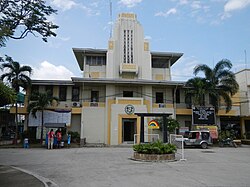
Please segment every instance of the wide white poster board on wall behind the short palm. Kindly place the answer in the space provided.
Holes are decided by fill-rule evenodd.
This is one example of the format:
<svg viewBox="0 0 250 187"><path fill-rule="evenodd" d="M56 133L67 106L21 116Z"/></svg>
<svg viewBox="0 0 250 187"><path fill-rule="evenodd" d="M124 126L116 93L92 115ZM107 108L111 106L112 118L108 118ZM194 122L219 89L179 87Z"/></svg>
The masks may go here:
<svg viewBox="0 0 250 187"><path fill-rule="evenodd" d="M44 111L44 124L45 123L65 123L67 126L71 123L71 111L69 110L45 110ZM39 127L42 124L42 112L36 113L36 118L29 114L29 126Z"/></svg>

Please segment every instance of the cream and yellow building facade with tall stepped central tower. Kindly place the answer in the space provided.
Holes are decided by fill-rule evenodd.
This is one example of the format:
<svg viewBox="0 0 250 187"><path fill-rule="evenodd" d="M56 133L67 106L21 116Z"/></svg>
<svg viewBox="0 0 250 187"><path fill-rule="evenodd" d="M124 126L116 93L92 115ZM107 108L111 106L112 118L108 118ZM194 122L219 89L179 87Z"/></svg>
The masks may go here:
<svg viewBox="0 0 250 187"><path fill-rule="evenodd" d="M136 14L119 14L107 49L73 48L73 52L83 77L33 80L32 90L50 91L59 98L59 105L48 109L66 111L67 116L70 111L67 130L79 132L82 143L132 143L134 135L141 134L137 113L169 114L191 130L192 109L185 101L184 82L171 80L171 66L183 53L150 51ZM229 113L221 110L217 124L239 122L239 115L238 104ZM148 128L153 118L144 120L145 141L148 134L161 137L159 130Z"/></svg>

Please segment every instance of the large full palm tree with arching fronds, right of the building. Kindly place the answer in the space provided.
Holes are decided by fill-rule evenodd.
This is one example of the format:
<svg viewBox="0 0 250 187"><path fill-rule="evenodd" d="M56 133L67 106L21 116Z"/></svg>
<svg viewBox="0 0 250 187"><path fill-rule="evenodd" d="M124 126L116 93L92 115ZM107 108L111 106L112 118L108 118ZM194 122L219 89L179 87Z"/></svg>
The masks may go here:
<svg viewBox="0 0 250 187"><path fill-rule="evenodd" d="M206 93L209 94L216 112L219 110L221 98L226 104L226 112L229 112L232 108L231 96L236 94L239 89L235 75L230 71L231 68L232 63L227 59L219 61L213 69L206 64L194 68L195 75L200 72L205 74Z"/></svg>

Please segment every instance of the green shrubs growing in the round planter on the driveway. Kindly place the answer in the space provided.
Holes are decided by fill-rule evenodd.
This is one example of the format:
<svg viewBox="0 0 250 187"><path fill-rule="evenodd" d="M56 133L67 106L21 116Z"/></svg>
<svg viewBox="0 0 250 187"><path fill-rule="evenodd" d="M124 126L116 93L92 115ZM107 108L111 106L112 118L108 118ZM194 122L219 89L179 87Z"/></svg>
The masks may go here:
<svg viewBox="0 0 250 187"><path fill-rule="evenodd" d="M176 146L173 144L164 144L161 141L156 141L149 144L134 145L133 150L144 154L172 154L175 153Z"/></svg>

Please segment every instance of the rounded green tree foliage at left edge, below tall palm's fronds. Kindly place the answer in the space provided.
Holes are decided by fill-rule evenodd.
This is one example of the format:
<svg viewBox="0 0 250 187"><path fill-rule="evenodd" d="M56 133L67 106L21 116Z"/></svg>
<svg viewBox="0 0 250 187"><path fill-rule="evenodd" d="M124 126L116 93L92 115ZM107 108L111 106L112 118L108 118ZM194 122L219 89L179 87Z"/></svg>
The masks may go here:
<svg viewBox="0 0 250 187"><path fill-rule="evenodd" d="M16 93L13 89L0 82L0 107L12 104L16 100Z"/></svg>

